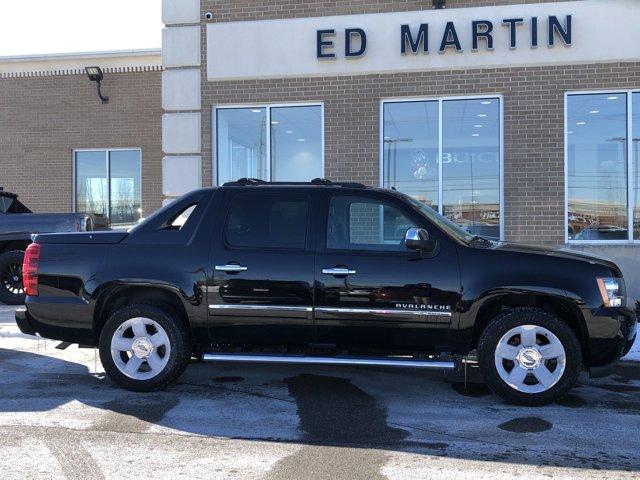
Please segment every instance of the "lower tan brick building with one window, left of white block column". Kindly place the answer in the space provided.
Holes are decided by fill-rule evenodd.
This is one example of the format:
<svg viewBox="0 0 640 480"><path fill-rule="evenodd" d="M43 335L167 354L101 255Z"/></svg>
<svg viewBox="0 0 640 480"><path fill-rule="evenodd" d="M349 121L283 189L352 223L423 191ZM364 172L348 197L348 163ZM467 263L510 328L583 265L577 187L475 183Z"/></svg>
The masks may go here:
<svg viewBox="0 0 640 480"><path fill-rule="evenodd" d="M107 104L91 65L104 71ZM160 50L0 59L0 186L34 211L92 211L116 224L158 209L161 83Z"/></svg>

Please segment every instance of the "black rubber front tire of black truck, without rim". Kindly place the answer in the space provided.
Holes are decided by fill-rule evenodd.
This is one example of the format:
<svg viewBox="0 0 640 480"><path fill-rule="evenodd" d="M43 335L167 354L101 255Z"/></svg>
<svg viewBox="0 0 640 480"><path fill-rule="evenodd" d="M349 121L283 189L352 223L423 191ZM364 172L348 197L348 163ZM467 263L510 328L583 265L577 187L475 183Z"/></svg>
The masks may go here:
<svg viewBox="0 0 640 480"><path fill-rule="evenodd" d="M510 386L498 373L495 352L501 338L511 329L536 325L553 333L565 351L566 365L560 379L540 393L525 393ZM537 308L515 308L494 318L484 329L478 343L480 370L489 388L509 403L524 406L549 404L571 390L582 366L580 343L569 326L553 315Z"/></svg>

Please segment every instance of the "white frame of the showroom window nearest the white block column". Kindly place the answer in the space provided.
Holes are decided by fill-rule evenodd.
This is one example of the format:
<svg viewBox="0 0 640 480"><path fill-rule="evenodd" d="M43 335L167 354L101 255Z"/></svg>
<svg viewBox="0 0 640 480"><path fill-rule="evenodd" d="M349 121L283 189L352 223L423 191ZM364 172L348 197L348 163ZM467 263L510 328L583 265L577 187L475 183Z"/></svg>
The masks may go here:
<svg viewBox="0 0 640 480"><path fill-rule="evenodd" d="M274 108L287 108L287 107L320 107L320 149L321 149L321 170L324 177L325 172L325 121L324 121L324 102L302 102L302 103L241 103L241 104L229 104L229 105L215 105L211 108L211 145L213 151L213 165L211 169L211 181L212 185L221 186L219 183L219 155L218 155L218 111L219 110L233 110L233 109L251 109L251 108L264 108L266 110L266 121L268 128L266 129L266 158L267 169L269 172L269 178L267 181L272 180L273 176L273 164L271 162L271 110ZM238 180L237 178L234 180Z"/></svg>

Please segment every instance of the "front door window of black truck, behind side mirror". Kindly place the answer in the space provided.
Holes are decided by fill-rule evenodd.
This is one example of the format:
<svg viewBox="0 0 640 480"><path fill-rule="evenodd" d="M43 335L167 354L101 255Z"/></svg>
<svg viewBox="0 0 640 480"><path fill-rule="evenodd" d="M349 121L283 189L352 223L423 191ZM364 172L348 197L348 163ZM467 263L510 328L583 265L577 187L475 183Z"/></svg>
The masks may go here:
<svg viewBox="0 0 640 480"><path fill-rule="evenodd" d="M404 235L415 222L384 202L334 197L329 206L327 248L404 251Z"/></svg>

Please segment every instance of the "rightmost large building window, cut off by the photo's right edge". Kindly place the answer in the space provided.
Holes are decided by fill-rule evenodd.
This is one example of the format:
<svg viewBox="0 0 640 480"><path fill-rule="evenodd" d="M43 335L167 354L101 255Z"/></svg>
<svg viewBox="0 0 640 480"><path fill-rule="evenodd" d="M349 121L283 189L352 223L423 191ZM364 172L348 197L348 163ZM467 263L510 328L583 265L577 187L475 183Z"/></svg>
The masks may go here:
<svg viewBox="0 0 640 480"><path fill-rule="evenodd" d="M640 240L640 92L567 94L567 239Z"/></svg>

